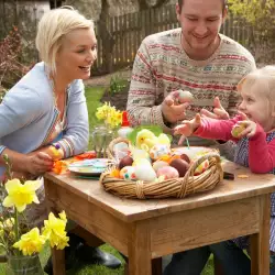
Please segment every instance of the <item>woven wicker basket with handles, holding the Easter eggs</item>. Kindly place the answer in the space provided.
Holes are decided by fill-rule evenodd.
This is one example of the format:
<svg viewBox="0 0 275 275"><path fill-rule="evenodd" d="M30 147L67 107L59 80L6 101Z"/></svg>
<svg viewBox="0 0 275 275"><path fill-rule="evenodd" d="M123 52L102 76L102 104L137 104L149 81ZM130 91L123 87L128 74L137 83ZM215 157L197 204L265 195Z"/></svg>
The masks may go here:
<svg viewBox="0 0 275 275"><path fill-rule="evenodd" d="M128 143L128 141L123 139L113 140L107 151L110 158L114 157L113 146L118 142ZM206 160L209 161L208 169L198 176L194 176L195 169ZM107 191L124 198L184 198L190 194L210 190L223 178L223 170L218 153L209 153L198 158L190 165L184 177L170 178L161 183L143 180L128 182L121 178L114 178L110 176L113 168L114 167L109 167L102 173L99 182Z"/></svg>

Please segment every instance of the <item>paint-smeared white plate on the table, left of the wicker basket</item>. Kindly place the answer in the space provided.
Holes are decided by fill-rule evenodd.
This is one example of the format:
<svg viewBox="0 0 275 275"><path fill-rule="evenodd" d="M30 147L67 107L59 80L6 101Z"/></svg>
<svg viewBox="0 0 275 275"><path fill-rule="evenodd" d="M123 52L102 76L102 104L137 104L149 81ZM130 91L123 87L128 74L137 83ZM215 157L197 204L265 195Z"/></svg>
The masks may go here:
<svg viewBox="0 0 275 275"><path fill-rule="evenodd" d="M109 158L92 158L72 163L68 169L84 176L99 176L112 163Z"/></svg>

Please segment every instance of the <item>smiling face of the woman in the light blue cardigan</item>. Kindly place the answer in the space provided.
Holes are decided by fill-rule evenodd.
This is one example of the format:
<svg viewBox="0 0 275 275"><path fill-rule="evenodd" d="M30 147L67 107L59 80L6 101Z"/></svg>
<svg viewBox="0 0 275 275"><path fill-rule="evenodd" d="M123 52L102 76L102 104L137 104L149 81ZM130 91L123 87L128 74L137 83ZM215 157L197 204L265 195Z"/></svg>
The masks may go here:
<svg viewBox="0 0 275 275"><path fill-rule="evenodd" d="M69 82L90 77L90 68L97 59L97 40L94 29L77 29L63 37L56 55L56 75Z"/></svg>

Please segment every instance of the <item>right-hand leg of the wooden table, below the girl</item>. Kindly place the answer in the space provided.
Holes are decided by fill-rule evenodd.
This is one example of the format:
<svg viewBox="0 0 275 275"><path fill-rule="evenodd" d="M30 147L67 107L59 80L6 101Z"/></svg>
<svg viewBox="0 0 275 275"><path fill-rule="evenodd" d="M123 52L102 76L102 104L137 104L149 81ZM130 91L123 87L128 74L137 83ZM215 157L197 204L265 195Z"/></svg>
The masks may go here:
<svg viewBox="0 0 275 275"><path fill-rule="evenodd" d="M258 233L251 235L251 274L270 275L271 195L260 201Z"/></svg>

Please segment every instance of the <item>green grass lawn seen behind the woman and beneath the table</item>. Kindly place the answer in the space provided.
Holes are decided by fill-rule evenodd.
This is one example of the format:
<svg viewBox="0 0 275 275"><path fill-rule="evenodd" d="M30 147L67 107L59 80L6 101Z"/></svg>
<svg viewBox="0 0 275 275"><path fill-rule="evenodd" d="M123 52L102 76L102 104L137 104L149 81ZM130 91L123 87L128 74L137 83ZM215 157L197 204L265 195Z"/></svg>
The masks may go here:
<svg viewBox="0 0 275 275"><path fill-rule="evenodd" d="M87 88L86 89L86 99L87 99L87 107L89 111L89 123L90 123L90 130L98 124L98 121L95 117L95 112L97 107L100 106L100 98L103 95L103 88ZM123 258L120 256L118 251L116 251L112 246L105 244L101 246L102 250L110 252L114 254L117 257L119 257L123 263ZM46 246L43 252L41 253L41 263L44 266L48 256L50 256L50 248ZM4 275L4 265L0 265L0 275ZM109 270L103 266L98 266L98 265L91 265L91 266L81 266L80 270L72 270L67 273L68 275L123 275L123 266L120 267L119 270ZM202 275L211 275L213 274L212 271L212 257L210 257L208 265L206 266L205 271L202 272Z"/></svg>

